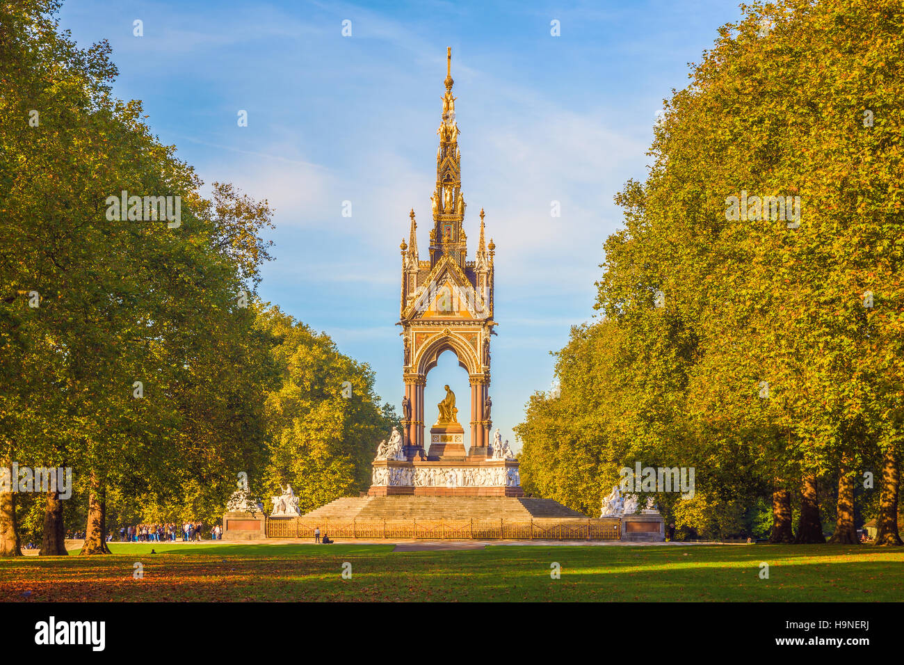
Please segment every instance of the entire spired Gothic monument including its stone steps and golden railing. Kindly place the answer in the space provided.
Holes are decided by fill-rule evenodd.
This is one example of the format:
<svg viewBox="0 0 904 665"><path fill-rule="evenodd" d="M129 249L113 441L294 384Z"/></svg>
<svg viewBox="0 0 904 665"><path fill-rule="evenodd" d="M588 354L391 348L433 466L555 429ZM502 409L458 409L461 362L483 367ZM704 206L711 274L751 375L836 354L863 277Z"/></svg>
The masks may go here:
<svg viewBox="0 0 904 665"><path fill-rule="evenodd" d="M446 57L428 258L419 258L414 210L409 241L400 244L401 431L393 428L374 451L372 484L362 496L334 499L300 518L291 488L271 499L268 537L310 537L327 524L338 537L618 537L617 518L587 518L552 499L525 498L519 462L498 428L491 442L495 244L485 240L481 210L468 260L451 50ZM428 412L427 377L446 351L466 370L470 399L446 385ZM226 518L246 526L240 513Z"/></svg>

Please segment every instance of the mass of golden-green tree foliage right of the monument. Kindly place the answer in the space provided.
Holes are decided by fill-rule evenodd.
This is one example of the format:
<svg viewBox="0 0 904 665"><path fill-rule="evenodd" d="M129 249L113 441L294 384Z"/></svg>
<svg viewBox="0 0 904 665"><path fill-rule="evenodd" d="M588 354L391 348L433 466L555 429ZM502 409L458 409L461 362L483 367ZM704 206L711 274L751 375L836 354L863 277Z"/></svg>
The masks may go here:
<svg viewBox="0 0 904 665"><path fill-rule="evenodd" d="M707 507L698 522L721 516L717 528L731 531L768 492L773 537L787 540L800 489L796 538L818 542L817 479L832 479L835 540L852 542L855 479L880 470L879 539L900 543L899 9L890 0L742 7L691 84L665 101L649 176L617 196L626 226L606 243L604 319L576 330L557 366L566 403L570 391L617 395L595 416L591 457L615 463L599 473L599 492L623 463L693 465ZM612 350L580 341L588 337ZM566 372L575 352L605 377L575 383ZM563 471L533 464L536 451L581 436L566 411L565 441L539 441L541 414L559 408L549 401L535 395L519 429L525 482L538 489ZM674 504L674 517L693 503Z"/></svg>

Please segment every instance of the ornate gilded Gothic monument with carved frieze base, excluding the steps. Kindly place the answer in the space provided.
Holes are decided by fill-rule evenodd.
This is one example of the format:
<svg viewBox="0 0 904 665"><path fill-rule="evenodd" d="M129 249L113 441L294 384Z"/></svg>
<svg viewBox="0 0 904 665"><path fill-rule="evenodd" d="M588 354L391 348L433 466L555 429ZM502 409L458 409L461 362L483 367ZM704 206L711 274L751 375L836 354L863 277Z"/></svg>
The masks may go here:
<svg viewBox="0 0 904 665"><path fill-rule="evenodd" d="M430 195L428 259L419 258L414 210L409 215L409 241L402 240L400 245L399 325L405 382L401 450L392 447L390 452L381 444L373 461L369 494L522 497L518 462L508 442L494 446L489 442L495 244L485 240L485 213L481 210L475 258L468 261L451 49L446 58L446 93L437 129L437 180ZM466 370L471 394L463 403L446 385L446 396L437 404L434 420L433 413L424 408L424 387L429 371L445 351L452 351ZM464 405L460 410L458 404L466 404L468 411L463 411ZM467 432L460 420L465 413L469 414ZM427 441L428 422L433 424Z"/></svg>

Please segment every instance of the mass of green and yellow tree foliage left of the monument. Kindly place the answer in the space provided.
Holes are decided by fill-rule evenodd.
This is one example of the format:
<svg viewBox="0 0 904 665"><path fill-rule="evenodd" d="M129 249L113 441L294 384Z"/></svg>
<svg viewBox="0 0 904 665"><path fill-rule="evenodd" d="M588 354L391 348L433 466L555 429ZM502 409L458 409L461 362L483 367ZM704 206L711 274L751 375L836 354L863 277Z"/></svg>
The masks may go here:
<svg viewBox="0 0 904 665"><path fill-rule="evenodd" d="M59 6L0 7L0 467L73 469L83 554L106 550L108 509L215 519L238 471L291 479L310 507L363 489L391 419L367 366L259 303L267 202L203 194ZM0 556L18 554L14 500ZM56 492L44 510L42 554L65 554Z"/></svg>

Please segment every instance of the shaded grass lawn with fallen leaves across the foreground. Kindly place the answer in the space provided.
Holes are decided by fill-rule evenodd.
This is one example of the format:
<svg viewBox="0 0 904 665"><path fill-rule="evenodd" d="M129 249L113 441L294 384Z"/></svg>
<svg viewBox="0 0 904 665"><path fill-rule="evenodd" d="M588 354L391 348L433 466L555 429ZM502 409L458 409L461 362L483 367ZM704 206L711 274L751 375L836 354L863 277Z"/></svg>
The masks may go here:
<svg viewBox="0 0 904 665"><path fill-rule="evenodd" d="M0 560L0 601L900 601L904 548L111 544ZM344 579L343 565L352 565ZM551 564L561 566L551 578ZM760 563L769 578L760 579ZM144 576L135 579L135 564Z"/></svg>

